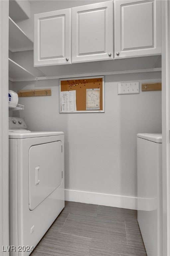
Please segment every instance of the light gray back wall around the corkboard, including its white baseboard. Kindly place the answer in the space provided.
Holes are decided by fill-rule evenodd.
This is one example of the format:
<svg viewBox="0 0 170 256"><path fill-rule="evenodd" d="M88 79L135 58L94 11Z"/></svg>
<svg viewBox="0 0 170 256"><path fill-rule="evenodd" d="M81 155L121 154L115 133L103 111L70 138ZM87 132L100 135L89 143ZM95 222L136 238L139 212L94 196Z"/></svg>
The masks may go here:
<svg viewBox="0 0 170 256"><path fill-rule="evenodd" d="M66 199L136 207L136 134L161 133L161 91L118 95L117 84L139 81L141 89L141 83L160 82L160 76L105 76L105 113L59 114L57 79L13 83L15 91L51 88L52 96L19 98L25 110L13 115L25 118L32 131L64 131Z"/></svg>

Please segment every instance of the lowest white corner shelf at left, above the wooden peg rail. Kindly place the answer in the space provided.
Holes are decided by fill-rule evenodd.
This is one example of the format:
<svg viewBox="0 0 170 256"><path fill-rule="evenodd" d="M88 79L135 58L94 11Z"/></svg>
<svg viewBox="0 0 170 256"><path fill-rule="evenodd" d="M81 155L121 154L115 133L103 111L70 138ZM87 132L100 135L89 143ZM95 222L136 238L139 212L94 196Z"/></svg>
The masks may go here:
<svg viewBox="0 0 170 256"><path fill-rule="evenodd" d="M18 65L15 61L9 59L9 80L12 82L36 80L36 77L25 68Z"/></svg>

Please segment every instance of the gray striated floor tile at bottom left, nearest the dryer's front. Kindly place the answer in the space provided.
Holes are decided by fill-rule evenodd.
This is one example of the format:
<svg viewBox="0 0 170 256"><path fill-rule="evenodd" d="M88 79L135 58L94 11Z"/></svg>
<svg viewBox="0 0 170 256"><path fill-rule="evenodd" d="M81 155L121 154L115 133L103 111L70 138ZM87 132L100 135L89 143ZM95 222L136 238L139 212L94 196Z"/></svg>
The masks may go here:
<svg viewBox="0 0 170 256"><path fill-rule="evenodd" d="M91 238L48 230L31 256L88 256Z"/></svg>

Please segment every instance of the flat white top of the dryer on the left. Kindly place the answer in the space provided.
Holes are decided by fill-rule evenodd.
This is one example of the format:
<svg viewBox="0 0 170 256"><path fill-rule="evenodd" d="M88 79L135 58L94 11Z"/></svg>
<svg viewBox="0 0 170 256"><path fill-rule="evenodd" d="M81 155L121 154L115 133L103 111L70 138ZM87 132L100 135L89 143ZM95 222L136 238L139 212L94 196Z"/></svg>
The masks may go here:
<svg viewBox="0 0 170 256"><path fill-rule="evenodd" d="M27 139L27 138L37 138L46 136L63 135L63 132L27 132L27 133L17 133L10 132L9 139Z"/></svg>

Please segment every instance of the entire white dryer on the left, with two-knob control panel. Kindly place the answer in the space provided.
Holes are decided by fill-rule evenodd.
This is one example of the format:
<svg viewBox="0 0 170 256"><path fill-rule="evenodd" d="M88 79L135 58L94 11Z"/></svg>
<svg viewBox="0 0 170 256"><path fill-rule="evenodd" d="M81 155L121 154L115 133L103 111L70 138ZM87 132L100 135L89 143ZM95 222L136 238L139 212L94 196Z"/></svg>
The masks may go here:
<svg viewBox="0 0 170 256"><path fill-rule="evenodd" d="M63 132L9 117L9 195L10 255L29 255L64 208Z"/></svg>

